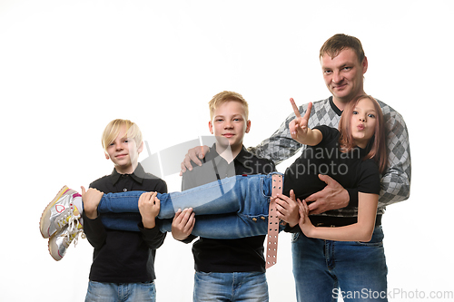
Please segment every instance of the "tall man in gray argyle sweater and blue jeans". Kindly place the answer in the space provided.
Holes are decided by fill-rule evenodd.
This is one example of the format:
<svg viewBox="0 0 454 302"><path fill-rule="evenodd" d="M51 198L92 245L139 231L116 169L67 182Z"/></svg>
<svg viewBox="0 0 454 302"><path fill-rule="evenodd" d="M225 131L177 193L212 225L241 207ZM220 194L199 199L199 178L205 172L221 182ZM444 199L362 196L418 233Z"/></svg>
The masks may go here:
<svg viewBox="0 0 454 302"><path fill-rule="evenodd" d="M323 79L331 92L328 99L313 102L309 127L328 125L338 127L341 112L346 104L364 93L364 73L368 60L360 40L335 34L321 46ZM388 169L381 178L379 209L376 228L370 242L341 242L311 239L301 230L287 229L292 234L293 275L297 300L324 302L338 297L387 301L386 260L382 244L381 216L386 206L407 200L410 196L410 142L407 126L400 115L389 105L380 102L387 132ZM301 106L305 112L307 104ZM279 164L305 146L291 139L289 123L295 118L291 113L269 139L250 148L259 157ZM198 163L202 150L192 150L182 164L191 169L190 160ZM319 227L341 227L357 221L358 190L342 188L327 175L324 190L306 199L311 204L311 221ZM294 209L297 210L297 209Z"/></svg>

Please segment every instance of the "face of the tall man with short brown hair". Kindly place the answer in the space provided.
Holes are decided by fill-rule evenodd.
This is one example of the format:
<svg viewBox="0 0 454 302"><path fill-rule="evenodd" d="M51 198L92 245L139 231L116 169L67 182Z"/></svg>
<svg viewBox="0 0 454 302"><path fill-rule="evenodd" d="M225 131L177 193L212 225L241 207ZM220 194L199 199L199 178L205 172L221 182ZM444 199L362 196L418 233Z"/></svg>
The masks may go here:
<svg viewBox="0 0 454 302"><path fill-rule="evenodd" d="M368 68L367 58L358 61L358 56L350 48L345 48L331 59L328 54L321 57L321 70L334 102L347 103L355 96L364 93L363 74Z"/></svg>

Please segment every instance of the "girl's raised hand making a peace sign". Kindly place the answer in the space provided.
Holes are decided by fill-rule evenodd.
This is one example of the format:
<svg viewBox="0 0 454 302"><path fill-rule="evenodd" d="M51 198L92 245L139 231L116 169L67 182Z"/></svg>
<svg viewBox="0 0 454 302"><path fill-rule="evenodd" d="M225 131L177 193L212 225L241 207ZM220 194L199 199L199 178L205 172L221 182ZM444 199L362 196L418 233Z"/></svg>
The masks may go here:
<svg viewBox="0 0 454 302"><path fill-rule="evenodd" d="M304 116L301 117L300 111L295 104L293 99L290 99L291 107L293 107L293 112L295 112L296 118L290 122L289 131L291 138L295 141L298 141L304 145L315 146L321 142L321 132L317 129L312 130L308 127L309 117L311 116L312 103L308 105L308 109Z"/></svg>

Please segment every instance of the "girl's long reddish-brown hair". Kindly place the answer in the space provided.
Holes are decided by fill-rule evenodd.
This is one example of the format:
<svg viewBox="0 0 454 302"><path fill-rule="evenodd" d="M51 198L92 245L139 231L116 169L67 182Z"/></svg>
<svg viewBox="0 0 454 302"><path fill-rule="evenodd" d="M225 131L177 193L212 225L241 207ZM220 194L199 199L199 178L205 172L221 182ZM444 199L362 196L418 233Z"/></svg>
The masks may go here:
<svg viewBox="0 0 454 302"><path fill-rule="evenodd" d="M362 99L370 99L372 101L375 112L377 112L377 122L375 123L375 134L370 138L368 143L369 153L364 157L363 161L373 159L379 166L380 173L386 169L388 154L386 151L386 136L385 136L385 123L383 119L383 112L381 112L380 105L370 95L360 95L353 101L349 102L345 107L341 115L341 121L339 122L339 132L341 136L339 138L339 145L341 146L342 152L349 152L356 147L351 134L351 115L356 105Z"/></svg>

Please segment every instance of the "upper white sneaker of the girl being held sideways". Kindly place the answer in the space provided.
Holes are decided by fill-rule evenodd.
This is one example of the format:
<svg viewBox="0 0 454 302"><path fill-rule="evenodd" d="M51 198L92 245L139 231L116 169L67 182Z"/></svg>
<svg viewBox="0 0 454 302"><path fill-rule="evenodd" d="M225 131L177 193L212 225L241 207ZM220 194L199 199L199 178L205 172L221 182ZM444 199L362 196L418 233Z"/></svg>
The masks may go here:
<svg viewBox="0 0 454 302"><path fill-rule="evenodd" d="M79 210L74 206L74 199L82 198L75 190L64 186L43 211L39 222L39 229L44 239L54 235L71 221L81 217Z"/></svg>

